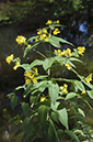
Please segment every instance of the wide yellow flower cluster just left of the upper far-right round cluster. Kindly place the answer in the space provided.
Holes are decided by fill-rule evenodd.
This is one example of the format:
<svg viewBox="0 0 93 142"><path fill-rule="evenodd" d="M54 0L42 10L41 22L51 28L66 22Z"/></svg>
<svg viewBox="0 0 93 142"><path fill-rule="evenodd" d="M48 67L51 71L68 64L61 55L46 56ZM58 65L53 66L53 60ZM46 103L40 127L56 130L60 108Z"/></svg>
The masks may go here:
<svg viewBox="0 0 93 142"><path fill-rule="evenodd" d="M55 54L59 55L59 56L67 56L67 57L72 56L72 53L71 53L70 48L63 50L62 52L61 52L61 50L58 50L58 51L55 50Z"/></svg>

